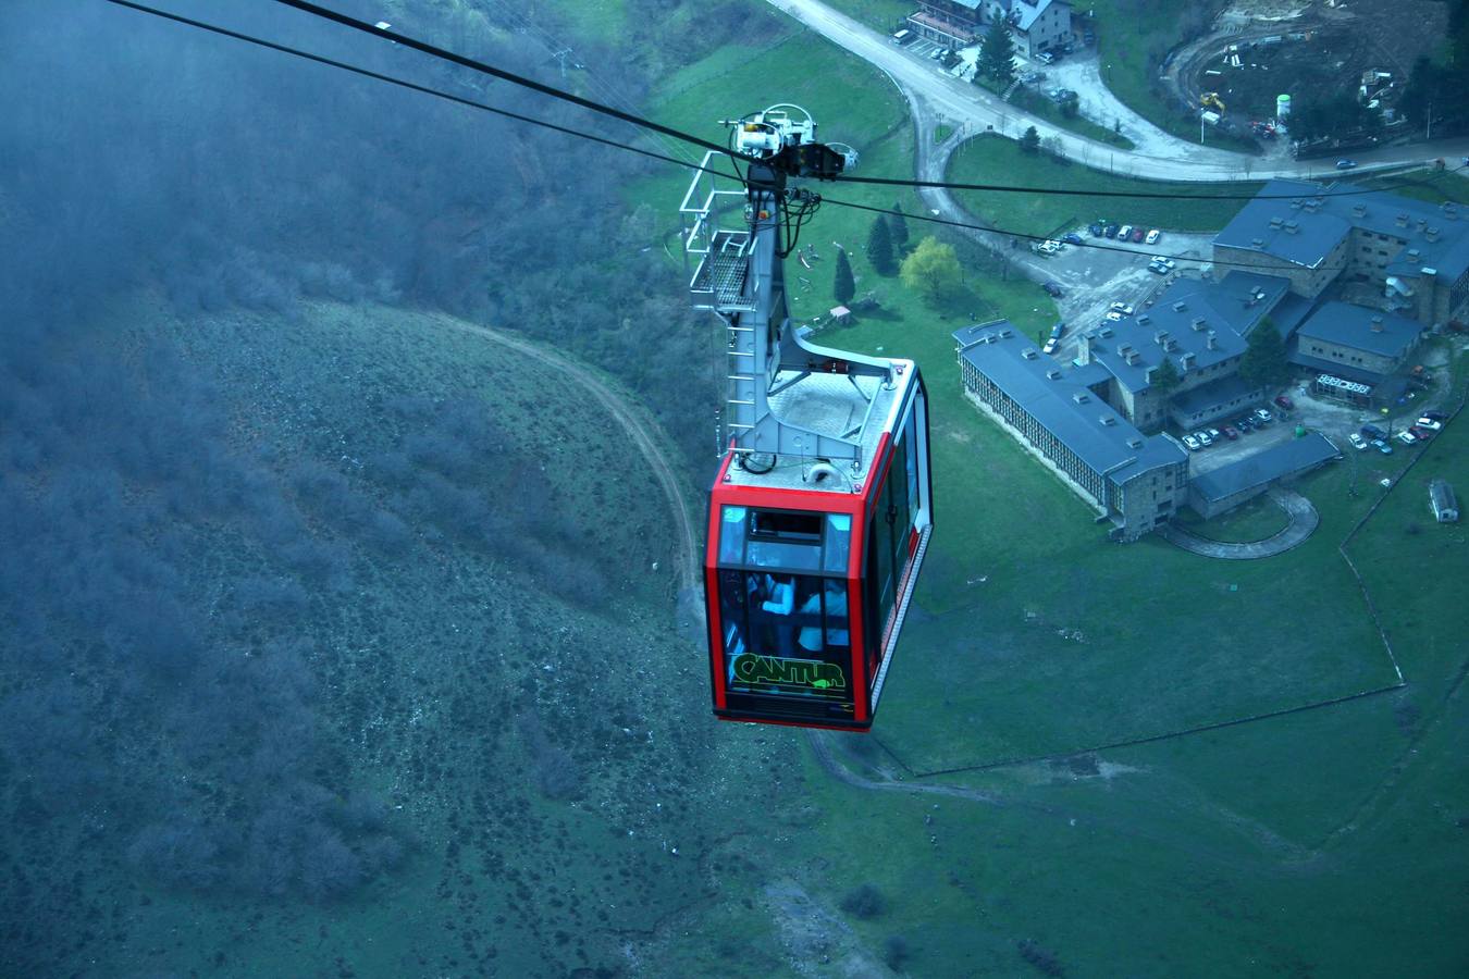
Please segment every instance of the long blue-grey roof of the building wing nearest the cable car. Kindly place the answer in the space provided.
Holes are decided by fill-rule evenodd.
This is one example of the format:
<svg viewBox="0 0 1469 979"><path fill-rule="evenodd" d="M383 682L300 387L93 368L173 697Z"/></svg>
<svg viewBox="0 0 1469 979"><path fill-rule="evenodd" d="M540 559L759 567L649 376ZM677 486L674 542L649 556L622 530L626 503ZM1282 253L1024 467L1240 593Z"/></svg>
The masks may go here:
<svg viewBox="0 0 1469 979"><path fill-rule="evenodd" d="M1009 336L1002 336L1005 332ZM1109 473L1114 483L1188 459L1188 454L1169 439L1141 434L1008 320L967 326L955 332L953 339L962 360L1014 398L1083 462L1097 473ZM1036 357L1027 358L1027 351ZM1047 377L1047 373L1058 376ZM1130 440L1141 445L1128 445Z"/></svg>

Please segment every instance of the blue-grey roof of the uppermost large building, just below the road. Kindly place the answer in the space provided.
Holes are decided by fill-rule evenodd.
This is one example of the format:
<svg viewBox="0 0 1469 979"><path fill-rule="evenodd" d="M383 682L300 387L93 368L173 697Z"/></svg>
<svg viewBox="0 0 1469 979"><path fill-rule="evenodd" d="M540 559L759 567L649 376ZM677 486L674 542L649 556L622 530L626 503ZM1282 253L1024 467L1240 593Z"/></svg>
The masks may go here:
<svg viewBox="0 0 1469 979"><path fill-rule="evenodd" d="M1259 251L1300 266L1315 267L1351 228L1387 235L1407 244L1391 257L1387 272L1419 277L1432 269L1457 279L1469 269L1469 210L1454 204L1428 204L1387 191L1331 197L1334 183L1271 181L1260 195L1299 195L1260 200L1240 208L1213 242ZM1278 219L1278 228L1271 226ZM1294 222L1294 233L1288 225ZM1256 239L1260 242L1256 245Z"/></svg>

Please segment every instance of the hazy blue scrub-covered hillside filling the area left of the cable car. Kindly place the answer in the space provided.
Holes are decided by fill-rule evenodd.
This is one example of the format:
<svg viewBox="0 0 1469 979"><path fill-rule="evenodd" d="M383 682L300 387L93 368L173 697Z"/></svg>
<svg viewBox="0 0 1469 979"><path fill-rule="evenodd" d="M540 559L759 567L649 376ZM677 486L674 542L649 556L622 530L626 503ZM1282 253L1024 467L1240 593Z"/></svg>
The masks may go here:
<svg viewBox="0 0 1469 979"><path fill-rule="evenodd" d="M173 7L632 138L269 4ZM680 56L746 19L714 13ZM472 4L401 21L554 75ZM712 754L643 456L464 324L574 355L707 480L710 335L624 194L652 164L103 3L0 35L0 972L626 964L730 785L779 791ZM623 98L664 68L580 56Z"/></svg>

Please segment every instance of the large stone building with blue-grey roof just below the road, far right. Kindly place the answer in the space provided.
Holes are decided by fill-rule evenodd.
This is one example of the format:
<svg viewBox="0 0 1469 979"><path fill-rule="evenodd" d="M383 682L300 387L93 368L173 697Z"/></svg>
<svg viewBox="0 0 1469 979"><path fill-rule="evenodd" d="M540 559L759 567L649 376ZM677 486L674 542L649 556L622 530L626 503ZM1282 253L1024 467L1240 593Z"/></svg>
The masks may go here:
<svg viewBox="0 0 1469 979"><path fill-rule="evenodd" d="M1385 191L1271 181L1213 239L1213 260L1288 279L1315 299L1338 279L1365 280L1384 305L1428 326L1469 314L1469 211Z"/></svg>

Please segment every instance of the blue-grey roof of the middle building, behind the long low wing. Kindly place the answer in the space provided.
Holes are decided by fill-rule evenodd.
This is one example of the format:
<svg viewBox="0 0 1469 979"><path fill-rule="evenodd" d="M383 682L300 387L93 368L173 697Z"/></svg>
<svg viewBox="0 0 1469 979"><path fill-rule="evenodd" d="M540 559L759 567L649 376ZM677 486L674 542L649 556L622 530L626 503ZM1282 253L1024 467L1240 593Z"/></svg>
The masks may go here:
<svg viewBox="0 0 1469 979"><path fill-rule="evenodd" d="M1149 386L1147 370L1162 364L1163 357L1172 360L1180 377L1187 373L1183 365L1184 354L1194 355L1190 370L1212 367L1231 357L1238 357L1244 352L1246 343L1230 326L1230 321L1231 317L1238 320L1241 314L1231 310L1230 316L1225 316L1216 308L1228 305L1227 298L1218 294L1218 289L1219 286L1212 282L1180 279L1163 291L1152 308L1136 317L1108 323L1106 326L1112 327L1112 336L1102 336L1105 327L1090 330L1087 336L1091 338L1091 360L1105 365L1128 390L1137 392ZM1202 327L1196 326L1197 320L1203 321ZM1168 333L1165 339L1175 342L1172 351L1165 352L1158 342L1161 330ZM1209 349L1210 333L1215 342L1213 349ZM1138 352L1136 364L1127 363L1124 348Z"/></svg>

